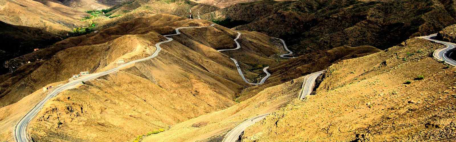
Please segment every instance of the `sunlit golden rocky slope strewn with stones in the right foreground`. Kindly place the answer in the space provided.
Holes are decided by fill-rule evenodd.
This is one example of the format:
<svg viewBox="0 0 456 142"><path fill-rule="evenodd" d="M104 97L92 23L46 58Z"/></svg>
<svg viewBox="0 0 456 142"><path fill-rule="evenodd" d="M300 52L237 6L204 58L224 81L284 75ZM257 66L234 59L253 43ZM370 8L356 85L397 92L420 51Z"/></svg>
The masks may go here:
<svg viewBox="0 0 456 142"><path fill-rule="evenodd" d="M315 96L271 113L242 141L455 141L456 69L429 57L442 47L412 38L332 65Z"/></svg>

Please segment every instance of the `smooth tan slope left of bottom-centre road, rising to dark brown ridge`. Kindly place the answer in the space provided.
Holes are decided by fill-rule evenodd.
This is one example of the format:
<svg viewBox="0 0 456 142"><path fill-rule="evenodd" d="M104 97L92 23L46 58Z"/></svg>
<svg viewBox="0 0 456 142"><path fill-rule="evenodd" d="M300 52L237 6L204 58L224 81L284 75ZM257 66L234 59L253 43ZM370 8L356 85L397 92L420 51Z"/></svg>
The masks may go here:
<svg viewBox="0 0 456 142"><path fill-rule="evenodd" d="M341 50L342 53L337 53L341 52ZM351 51L353 52L351 53ZM311 72L312 70L320 71L323 70L325 66L329 66L330 63L327 63L325 60L333 58L332 56L335 56L334 58L340 58L342 56L352 58L363 54L371 54L373 52L378 52L378 49L370 46L338 47L327 51L326 53L330 54L328 56L323 56L325 55L323 53L319 55L321 57L321 60L306 59L304 56L300 56L297 59L286 61L290 65L283 67L283 71L281 72L290 71L290 74L297 74L295 76L300 76L300 73L303 72L303 74L306 75L306 72ZM302 63L299 64L301 61ZM318 63L321 63L322 65L309 68L309 66ZM275 70L278 71L280 67L275 68ZM272 74L275 76L276 73L279 72ZM276 76L273 78L278 79L279 77ZM245 119L255 117L260 114L273 112L276 109L280 109L281 107L286 106L286 104L288 104L294 98L297 98L301 91L303 79L304 77L301 76L294 78L292 81L286 81L283 83L280 83L280 81L274 81L273 79L269 81L268 84L263 86L248 87L244 90L243 94L241 94L240 98L238 98L238 100L241 101L240 103L228 107L222 111L212 112L207 115L202 115L200 117L178 123L176 125L173 125L171 129L165 132L145 137L144 141L221 141L226 132L233 129L233 127L236 127L236 125L243 122Z"/></svg>

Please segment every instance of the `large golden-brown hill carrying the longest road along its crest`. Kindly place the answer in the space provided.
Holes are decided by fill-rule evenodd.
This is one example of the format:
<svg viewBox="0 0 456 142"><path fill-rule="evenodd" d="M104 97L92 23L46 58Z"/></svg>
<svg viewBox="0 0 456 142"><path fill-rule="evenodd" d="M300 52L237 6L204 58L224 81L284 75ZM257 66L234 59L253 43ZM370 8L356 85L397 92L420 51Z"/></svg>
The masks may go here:
<svg viewBox="0 0 456 142"><path fill-rule="evenodd" d="M35 95L42 95L41 87L64 82L79 71L105 71L118 66L119 59L132 61L149 56L155 51L155 43L165 39L161 35L175 33L175 27L210 24L206 20L187 20L166 14L146 16L97 33L71 37L50 48L21 56L40 60L0 76L0 101L4 106L1 112L5 114L1 120L9 124L2 125L2 135L8 136L12 130L10 124L26 113L10 113L11 105L26 105L17 103L36 90L39 91ZM87 86L64 91L48 102L29 125L34 140L126 141L153 129L166 129L177 122L232 106L235 94L250 85L239 76L229 56L216 49L234 48L237 33L219 25L181 32L172 36L174 41L161 45L163 49L153 60L87 81ZM240 52L245 55L233 54L233 57L241 63L250 80L264 76L263 72L249 71L253 66L247 63L276 64L270 56L278 54L280 49L267 35L240 32L239 42L245 48ZM99 131L101 129L103 131ZM107 135L111 137L100 138Z"/></svg>

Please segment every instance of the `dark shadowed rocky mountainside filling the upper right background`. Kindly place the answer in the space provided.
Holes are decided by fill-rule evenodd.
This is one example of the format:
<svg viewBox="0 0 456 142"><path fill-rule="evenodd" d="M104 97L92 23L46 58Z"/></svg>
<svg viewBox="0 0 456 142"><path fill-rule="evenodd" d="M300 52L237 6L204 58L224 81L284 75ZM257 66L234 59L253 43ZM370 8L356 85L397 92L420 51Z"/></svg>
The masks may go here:
<svg viewBox="0 0 456 142"><path fill-rule="evenodd" d="M386 49L456 23L449 0L262 0L204 15L238 30L283 38L298 55L338 46Z"/></svg>

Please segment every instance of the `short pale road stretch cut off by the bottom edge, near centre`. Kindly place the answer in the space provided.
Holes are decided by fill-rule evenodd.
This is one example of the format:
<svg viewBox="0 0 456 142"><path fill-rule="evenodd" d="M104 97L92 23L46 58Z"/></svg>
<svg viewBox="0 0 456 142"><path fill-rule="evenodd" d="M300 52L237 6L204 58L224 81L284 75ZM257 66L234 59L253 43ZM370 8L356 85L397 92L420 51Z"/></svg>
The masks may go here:
<svg viewBox="0 0 456 142"><path fill-rule="evenodd" d="M236 142L239 139L239 136L244 132L245 128L255 124L256 122L262 120L264 117L268 116L269 113L262 114L246 121L242 122L238 126L234 127L231 131L227 133L222 142Z"/></svg>

